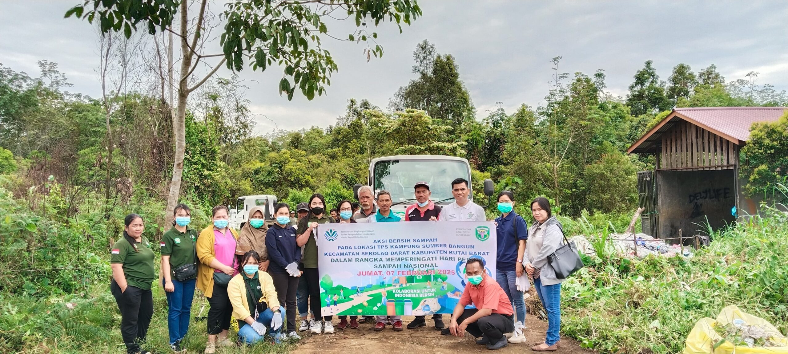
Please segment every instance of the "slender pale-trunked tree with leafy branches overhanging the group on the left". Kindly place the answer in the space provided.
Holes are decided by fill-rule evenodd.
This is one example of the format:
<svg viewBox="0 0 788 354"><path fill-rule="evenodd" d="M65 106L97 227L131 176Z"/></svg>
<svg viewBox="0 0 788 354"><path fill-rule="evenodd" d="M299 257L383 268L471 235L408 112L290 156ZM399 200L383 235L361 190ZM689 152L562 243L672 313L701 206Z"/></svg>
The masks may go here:
<svg viewBox="0 0 788 354"><path fill-rule="evenodd" d="M422 14L415 0L256 0L251 2L229 2L225 4L222 18L225 20L221 34L221 53L206 52L210 36L207 0L196 2L197 15L189 13L189 2L157 0L139 2L136 0L84 0L65 13L65 17L76 15L93 22L99 21L102 32L124 31L126 38L131 37L140 22L147 24L147 30L154 35L158 30L169 31L180 39L180 77L177 80L177 113L173 118L175 134L175 159L173 179L167 197L167 220L172 218L172 210L180 196L180 183L184 168L185 116L189 94L205 83L217 72L221 65L235 70L243 70L249 61L253 70L266 70L271 65L284 67L284 75L279 81L281 94L292 99L296 87L307 97L322 95L325 86L330 85L329 77L336 72L337 65L328 50L322 49L321 40L328 35L325 17L334 11L347 13L355 19L357 28L366 27L366 21L377 26L387 19L396 22L402 31L401 23L411 24L411 20ZM178 18L177 31L173 20ZM191 20L190 20L191 18ZM348 41L366 42L367 60L370 56L379 57L383 48L370 42L377 39L377 33L366 29L353 31ZM200 61L221 57L213 68L199 79L195 73ZM292 83L292 84L291 84Z"/></svg>

